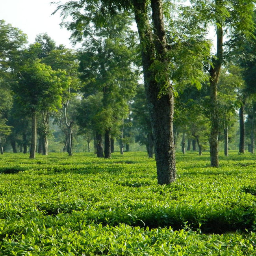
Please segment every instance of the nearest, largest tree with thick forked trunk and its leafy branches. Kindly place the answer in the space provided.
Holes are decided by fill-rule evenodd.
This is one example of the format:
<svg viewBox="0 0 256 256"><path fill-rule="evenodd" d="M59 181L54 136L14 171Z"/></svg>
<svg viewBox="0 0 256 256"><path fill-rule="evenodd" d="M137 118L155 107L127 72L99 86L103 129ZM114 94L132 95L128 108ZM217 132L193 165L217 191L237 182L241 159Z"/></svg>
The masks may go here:
<svg viewBox="0 0 256 256"><path fill-rule="evenodd" d="M205 54L206 52L209 53L209 44L206 43L206 40L201 40L201 44L198 43L200 40L194 40L195 34L190 43L184 42L187 41L187 35L189 34L187 28L192 26L200 28L200 25L198 25L200 22L195 22L195 19L190 19L189 24L186 25L180 22L182 19L176 22L175 25L177 26L179 23L184 25L182 28L184 33L182 33L182 30L179 30L181 33L176 32L174 24L169 19L171 26L168 36L171 44L167 43L161 0L80 0L79 2L68 2L60 5L57 10L62 10L61 15L71 14L73 16L74 21L67 24L67 27L73 30L79 25L81 30L74 29L74 35L82 38L84 34L90 33L88 24L91 21L89 18L92 15L92 10L86 9L86 6L89 4L93 6L98 3L101 5L98 11L104 14L110 13L111 15L107 15L107 17L111 17L111 19L121 15L124 9L132 10L135 17L141 46L145 91L154 134L158 184L169 184L176 177L173 141L174 85L181 80L190 80L192 83L200 85L201 78L205 78L201 70ZM87 11L87 19L82 19L84 15L80 13L80 9ZM167 13L169 12L165 11L165 14ZM187 17L192 16L187 15ZM165 18L168 18L168 15ZM98 24L103 24L102 19L97 21ZM86 32L84 33L83 30ZM181 38L183 35L186 36ZM179 61L178 57L181 56L181 53L183 58L182 61Z"/></svg>

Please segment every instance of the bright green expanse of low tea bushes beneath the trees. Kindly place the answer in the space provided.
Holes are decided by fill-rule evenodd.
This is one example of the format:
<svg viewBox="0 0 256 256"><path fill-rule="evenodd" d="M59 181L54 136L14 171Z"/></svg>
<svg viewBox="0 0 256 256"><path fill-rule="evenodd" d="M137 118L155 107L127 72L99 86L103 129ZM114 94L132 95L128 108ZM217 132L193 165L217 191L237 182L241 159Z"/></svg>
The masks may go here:
<svg viewBox="0 0 256 256"><path fill-rule="evenodd" d="M0 156L0 255L256 255L256 161L177 154L158 186L142 152Z"/></svg>

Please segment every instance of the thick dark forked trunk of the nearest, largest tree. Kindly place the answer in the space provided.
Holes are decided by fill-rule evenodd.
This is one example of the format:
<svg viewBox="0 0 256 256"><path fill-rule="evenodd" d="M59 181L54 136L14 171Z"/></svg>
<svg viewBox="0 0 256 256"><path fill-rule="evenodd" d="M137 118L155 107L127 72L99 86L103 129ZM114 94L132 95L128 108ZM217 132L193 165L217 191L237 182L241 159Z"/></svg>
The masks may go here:
<svg viewBox="0 0 256 256"><path fill-rule="evenodd" d="M176 178L173 138L174 98L169 81L169 59L167 58L162 2L151 0L154 38L147 15L147 1L133 0L133 5L142 50L145 91L154 135L158 184L170 184ZM154 59L162 64L161 70L152 69ZM164 94L160 95L162 89Z"/></svg>

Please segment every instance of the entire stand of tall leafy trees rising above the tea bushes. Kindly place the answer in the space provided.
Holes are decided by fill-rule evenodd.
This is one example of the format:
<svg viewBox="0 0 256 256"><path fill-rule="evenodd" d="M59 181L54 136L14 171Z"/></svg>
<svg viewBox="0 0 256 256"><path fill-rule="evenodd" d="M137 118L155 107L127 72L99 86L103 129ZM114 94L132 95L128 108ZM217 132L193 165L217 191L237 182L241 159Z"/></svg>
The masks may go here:
<svg viewBox="0 0 256 256"><path fill-rule="evenodd" d="M0 21L1 154L9 143L47 155L56 138L72 156L79 136L110 158L117 143L123 154L137 142L155 154L158 184L169 184L177 146L199 155L210 147L218 167L219 142L228 156L239 128L239 153L245 144L254 153L254 1L78 0L57 11L72 17L63 24L80 49L47 33L26 47L26 35Z"/></svg>

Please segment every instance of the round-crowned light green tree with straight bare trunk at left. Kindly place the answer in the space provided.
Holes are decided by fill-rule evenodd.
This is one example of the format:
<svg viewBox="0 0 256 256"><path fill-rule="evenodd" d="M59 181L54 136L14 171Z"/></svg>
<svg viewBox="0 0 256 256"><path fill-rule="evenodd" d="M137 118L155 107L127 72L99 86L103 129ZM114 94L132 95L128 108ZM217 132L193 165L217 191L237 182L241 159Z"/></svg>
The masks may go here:
<svg viewBox="0 0 256 256"><path fill-rule="evenodd" d="M13 90L20 106L32 117L30 158L35 158L37 113L57 111L61 106L63 88L68 86L70 80L65 72L54 71L39 61L20 67L18 79Z"/></svg>

